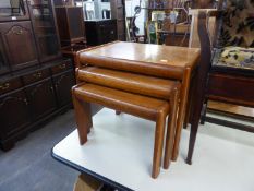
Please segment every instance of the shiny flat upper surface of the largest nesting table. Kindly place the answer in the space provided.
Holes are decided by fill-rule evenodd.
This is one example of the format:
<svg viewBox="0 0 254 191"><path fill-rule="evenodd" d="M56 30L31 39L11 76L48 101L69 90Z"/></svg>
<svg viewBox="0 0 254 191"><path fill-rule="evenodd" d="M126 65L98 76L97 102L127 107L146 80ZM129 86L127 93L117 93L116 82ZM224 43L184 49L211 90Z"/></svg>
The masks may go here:
<svg viewBox="0 0 254 191"><path fill-rule="evenodd" d="M199 48L162 46L117 41L92 48L82 56L148 62L168 67L193 67L199 57Z"/></svg>

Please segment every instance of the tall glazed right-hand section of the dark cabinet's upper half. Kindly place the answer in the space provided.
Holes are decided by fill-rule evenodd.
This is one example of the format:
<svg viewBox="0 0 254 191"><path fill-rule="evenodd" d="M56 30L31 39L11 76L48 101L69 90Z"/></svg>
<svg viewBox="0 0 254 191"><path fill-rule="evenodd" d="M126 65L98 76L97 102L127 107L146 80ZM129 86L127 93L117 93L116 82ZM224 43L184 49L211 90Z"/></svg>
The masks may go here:
<svg viewBox="0 0 254 191"><path fill-rule="evenodd" d="M29 10L40 62L61 57L50 0L31 0Z"/></svg>

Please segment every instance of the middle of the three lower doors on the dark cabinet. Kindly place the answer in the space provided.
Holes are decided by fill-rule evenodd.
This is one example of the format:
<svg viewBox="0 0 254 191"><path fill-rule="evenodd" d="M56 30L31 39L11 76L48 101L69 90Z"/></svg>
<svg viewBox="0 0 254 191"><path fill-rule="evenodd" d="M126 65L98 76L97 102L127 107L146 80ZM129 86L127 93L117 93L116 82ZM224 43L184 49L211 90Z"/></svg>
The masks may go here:
<svg viewBox="0 0 254 191"><path fill-rule="evenodd" d="M50 79L46 79L36 85L26 87L26 92L29 107L33 111L33 120L45 117L56 109L56 97Z"/></svg>

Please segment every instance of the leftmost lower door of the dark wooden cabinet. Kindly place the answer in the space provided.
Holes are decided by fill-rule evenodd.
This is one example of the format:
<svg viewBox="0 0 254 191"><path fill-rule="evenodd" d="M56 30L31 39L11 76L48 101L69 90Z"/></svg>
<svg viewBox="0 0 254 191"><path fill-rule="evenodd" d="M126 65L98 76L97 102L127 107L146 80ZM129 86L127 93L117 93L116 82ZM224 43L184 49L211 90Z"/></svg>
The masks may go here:
<svg viewBox="0 0 254 191"><path fill-rule="evenodd" d="M24 91L0 98L0 139L5 140L29 124L29 114Z"/></svg>

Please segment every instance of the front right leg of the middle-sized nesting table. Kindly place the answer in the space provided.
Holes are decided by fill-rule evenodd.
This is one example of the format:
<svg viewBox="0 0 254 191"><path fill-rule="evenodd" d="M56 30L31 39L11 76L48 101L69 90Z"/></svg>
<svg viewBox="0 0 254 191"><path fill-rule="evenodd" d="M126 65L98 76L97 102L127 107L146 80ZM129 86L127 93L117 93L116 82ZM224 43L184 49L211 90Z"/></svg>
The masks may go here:
<svg viewBox="0 0 254 191"><path fill-rule="evenodd" d="M171 112L168 117L166 146L165 146L165 159L164 159L165 169L169 168L172 157L174 133L177 128L177 115L178 115L178 89L174 89L174 93L170 99L170 105L171 105L170 107Z"/></svg>

